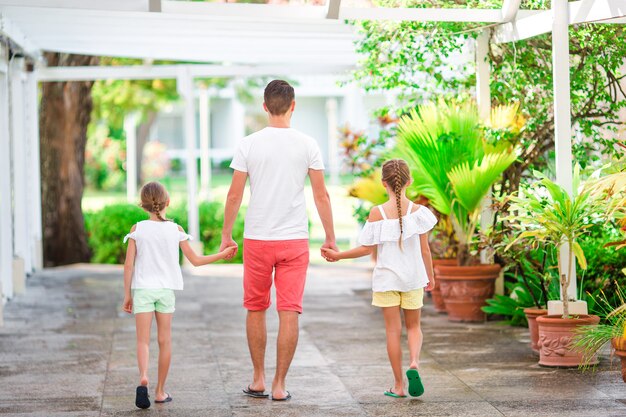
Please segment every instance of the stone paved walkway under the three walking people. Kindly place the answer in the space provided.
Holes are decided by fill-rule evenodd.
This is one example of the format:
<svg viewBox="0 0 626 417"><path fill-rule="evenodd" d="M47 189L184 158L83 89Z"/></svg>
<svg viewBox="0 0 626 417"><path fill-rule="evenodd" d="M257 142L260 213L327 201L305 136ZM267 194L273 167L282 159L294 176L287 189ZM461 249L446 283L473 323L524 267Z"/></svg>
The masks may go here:
<svg viewBox="0 0 626 417"><path fill-rule="evenodd" d="M498 323L448 323L424 309L419 399L382 395L391 384L369 270L312 266L289 403L245 397L250 363L240 266L187 275L174 318L167 389L174 402L134 407L134 326L121 313L119 267L77 266L31 277L0 329L0 414L14 416L626 416L617 363L600 370L541 368L528 332ZM271 310L267 362L274 363ZM153 341L153 351L156 343ZM154 361L153 361L154 362ZM156 380L156 369L151 370Z"/></svg>

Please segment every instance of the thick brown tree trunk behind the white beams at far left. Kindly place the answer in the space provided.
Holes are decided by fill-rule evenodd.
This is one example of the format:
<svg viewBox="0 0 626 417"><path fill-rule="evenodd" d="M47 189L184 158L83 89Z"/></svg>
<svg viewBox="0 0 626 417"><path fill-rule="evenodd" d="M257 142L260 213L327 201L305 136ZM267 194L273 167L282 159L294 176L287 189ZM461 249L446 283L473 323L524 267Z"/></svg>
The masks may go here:
<svg viewBox="0 0 626 417"><path fill-rule="evenodd" d="M46 53L49 66L96 65L97 57ZM90 258L81 208L93 82L43 83L40 146L43 252L46 266Z"/></svg>

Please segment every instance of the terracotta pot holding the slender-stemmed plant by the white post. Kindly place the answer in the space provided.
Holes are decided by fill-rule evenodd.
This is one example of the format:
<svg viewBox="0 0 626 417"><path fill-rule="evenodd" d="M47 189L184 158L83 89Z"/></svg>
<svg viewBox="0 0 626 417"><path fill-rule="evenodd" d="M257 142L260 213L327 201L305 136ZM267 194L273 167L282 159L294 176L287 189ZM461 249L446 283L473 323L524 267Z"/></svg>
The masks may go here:
<svg viewBox="0 0 626 417"><path fill-rule="evenodd" d="M579 315L564 319L560 315L537 317L539 326L539 365L552 367L579 366L583 360L580 351L571 348L574 329L578 326L598 324L600 317ZM597 357L591 358L589 365L598 363Z"/></svg>

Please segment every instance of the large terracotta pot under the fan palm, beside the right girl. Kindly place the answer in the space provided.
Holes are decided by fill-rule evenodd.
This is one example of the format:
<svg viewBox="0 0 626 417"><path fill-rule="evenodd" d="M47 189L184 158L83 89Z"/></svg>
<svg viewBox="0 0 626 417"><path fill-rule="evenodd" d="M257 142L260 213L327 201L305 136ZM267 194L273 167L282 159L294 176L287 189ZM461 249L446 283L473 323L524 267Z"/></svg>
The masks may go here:
<svg viewBox="0 0 626 417"><path fill-rule="evenodd" d="M493 296L500 265L435 266L435 280L441 286L441 295L450 321L485 321L481 307Z"/></svg>

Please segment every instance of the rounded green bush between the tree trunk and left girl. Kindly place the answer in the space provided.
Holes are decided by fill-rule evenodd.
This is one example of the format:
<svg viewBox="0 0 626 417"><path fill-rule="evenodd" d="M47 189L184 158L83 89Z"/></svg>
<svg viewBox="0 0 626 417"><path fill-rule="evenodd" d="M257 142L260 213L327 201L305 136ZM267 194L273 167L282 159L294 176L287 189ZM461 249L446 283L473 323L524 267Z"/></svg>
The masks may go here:
<svg viewBox="0 0 626 417"><path fill-rule="evenodd" d="M148 214L133 204L113 204L89 213L85 226L92 262L104 264L123 263L126 256L124 236L134 224L146 220Z"/></svg>

